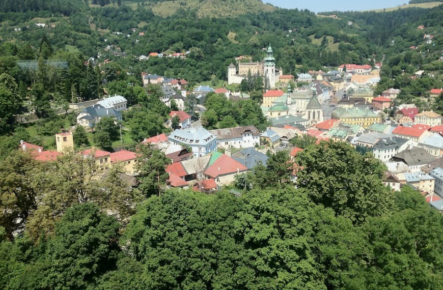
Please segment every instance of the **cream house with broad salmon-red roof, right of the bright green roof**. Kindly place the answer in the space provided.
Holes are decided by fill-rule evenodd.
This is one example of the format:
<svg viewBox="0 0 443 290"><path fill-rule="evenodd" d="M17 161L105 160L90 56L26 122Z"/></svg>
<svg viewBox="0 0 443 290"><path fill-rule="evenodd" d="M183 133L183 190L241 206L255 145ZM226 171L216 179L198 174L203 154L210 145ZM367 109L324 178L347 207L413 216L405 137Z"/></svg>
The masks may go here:
<svg viewBox="0 0 443 290"><path fill-rule="evenodd" d="M221 154L221 156L204 171L204 174L209 179L213 178L218 185L229 185L234 181L235 176L247 170L245 165L225 154Z"/></svg>

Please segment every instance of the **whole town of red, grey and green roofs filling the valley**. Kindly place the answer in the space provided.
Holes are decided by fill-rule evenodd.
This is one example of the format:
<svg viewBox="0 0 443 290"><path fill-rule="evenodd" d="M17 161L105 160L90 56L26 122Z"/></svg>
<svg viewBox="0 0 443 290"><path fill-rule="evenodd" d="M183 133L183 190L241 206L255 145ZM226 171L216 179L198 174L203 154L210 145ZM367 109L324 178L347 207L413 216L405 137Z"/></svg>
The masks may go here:
<svg viewBox="0 0 443 290"><path fill-rule="evenodd" d="M238 57L238 60L243 59ZM156 136L146 136L140 143L158 149L171 164L165 170L169 188L191 188L213 193L229 186L242 173L258 164L266 165L269 154L284 151L291 160L303 149L292 142L310 136L316 142L334 140L350 144L361 154L371 153L387 168L383 183L398 191L404 185L419 190L429 204L443 211L443 125L442 116L432 110L419 111L414 104L394 106L401 94L398 89L388 89L374 95L382 63L369 65L343 64L328 72L309 71L296 76L284 75L276 70L272 48L261 63L231 64L227 68L229 83L240 83L247 75L263 76L268 84L261 110L268 125L260 131L256 126L238 126L207 130L186 111L187 96L199 100L197 114L205 111L204 100L210 94L219 94L228 100L248 99L241 92L226 88L197 86L189 88L184 79L142 73L145 85L161 88L161 102L177 111L171 111L165 126L173 130ZM237 69L238 67L238 69ZM299 85L301 84L301 85ZM437 97L443 89L429 93ZM122 113L131 110L124 96L108 96L102 100L73 103L77 126L87 129L96 126L101 118L111 117L115 123L122 121ZM172 128L174 118L178 124ZM21 140L23 151L33 151L35 159L53 161L57 156L74 148L72 130L56 134L57 151ZM80 151L94 158L100 166L123 163L126 174L136 176L137 151L119 148L107 152L97 148ZM294 163L294 168L297 164ZM297 179L297 170L292 173Z"/></svg>

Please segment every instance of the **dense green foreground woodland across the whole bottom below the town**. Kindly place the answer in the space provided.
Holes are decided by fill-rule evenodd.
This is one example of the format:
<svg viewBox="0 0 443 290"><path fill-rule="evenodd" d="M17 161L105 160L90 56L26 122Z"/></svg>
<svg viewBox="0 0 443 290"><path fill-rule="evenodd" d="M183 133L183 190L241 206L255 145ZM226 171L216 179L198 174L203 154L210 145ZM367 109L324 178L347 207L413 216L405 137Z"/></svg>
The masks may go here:
<svg viewBox="0 0 443 290"><path fill-rule="evenodd" d="M384 165L371 154L342 142L308 146L297 155L295 188L279 152L237 177L241 197L152 191L152 160L164 155L143 154L151 158L137 165L140 190L116 178L119 167L94 179L96 163L76 154L38 164L17 151L0 162L10 213L0 215L0 287L443 287L443 217L412 188L384 187ZM68 184L67 168L78 173ZM11 238L17 226L23 234Z"/></svg>

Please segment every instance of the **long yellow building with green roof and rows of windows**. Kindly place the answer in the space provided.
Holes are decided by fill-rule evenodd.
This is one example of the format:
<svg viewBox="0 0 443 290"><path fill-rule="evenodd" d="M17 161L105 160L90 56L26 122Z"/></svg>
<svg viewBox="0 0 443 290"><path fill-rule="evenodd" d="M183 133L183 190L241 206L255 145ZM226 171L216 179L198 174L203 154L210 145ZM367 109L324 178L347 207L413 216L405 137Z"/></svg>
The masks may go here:
<svg viewBox="0 0 443 290"><path fill-rule="evenodd" d="M331 118L338 119L341 123L361 125L365 128L374 123L380 123L380 116L366 108L337 107L332 112Z"/></svg>

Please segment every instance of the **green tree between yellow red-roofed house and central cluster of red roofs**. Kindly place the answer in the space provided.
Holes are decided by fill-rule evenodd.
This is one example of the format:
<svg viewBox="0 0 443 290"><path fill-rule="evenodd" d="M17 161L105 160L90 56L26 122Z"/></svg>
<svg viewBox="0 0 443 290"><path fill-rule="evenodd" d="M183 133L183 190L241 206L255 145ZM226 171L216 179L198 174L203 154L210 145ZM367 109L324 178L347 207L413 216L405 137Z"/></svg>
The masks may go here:
<svg viewBox="0 0 443 290"><path fill-rule="evenodd" d="M160 195L169 178L165 167L171 163L171 159L160 150L151 148L150 145L141 145L139 150L140 155L135 166L139 172L137 176L140 181L139 187L147 197Z"/></svg>

